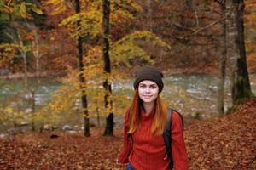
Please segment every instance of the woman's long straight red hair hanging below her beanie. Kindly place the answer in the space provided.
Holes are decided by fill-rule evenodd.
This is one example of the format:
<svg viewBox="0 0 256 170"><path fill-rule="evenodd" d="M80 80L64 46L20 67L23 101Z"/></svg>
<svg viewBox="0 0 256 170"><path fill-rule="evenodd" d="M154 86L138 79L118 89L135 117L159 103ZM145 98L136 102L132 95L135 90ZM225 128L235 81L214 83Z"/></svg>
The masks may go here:
<svg viewBox="0 0 256 170"><path fill-rule="evenodd" d="M138 88L136 88L130 108L130 129L128 133L135 133L137 128L140 126L142 107L143 101L139 98ZM164 105L162 99L160 98L160 94L158 94L157 98L155 99L154 108L154 121L151 125L151 133L153 133L155 136L160 136L166 127L168 111L166 105Z"/></svg>

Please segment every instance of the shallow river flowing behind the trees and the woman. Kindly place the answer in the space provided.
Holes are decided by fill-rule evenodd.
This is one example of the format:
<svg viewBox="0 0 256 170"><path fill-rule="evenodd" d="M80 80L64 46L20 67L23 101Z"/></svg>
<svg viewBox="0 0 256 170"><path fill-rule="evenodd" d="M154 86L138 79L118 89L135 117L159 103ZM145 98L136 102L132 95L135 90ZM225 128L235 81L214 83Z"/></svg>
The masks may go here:
<svg viewBox="0 0 256 170"><path fill-rule="evenodd" d="M123 82L113 82L113 94L119 94L121 89L132 89L133 79L126 79ZM256 74L250 75L251 88L256 94ZM55 79L44 78L38 86L35 101L37 107L46 105L50 99L50 94L61 86L61 82ZM209 118L217 114L217 90L218 77L207 75L176 75L164 78L165 87L161 93L170 106L183 115ZM29 79L29 89L37 87L36 79ZM225 111L231 105L230 81L225 82ZM19 106L24 111L30 110L30 93L21 93L23 89L22 79L4 80L0 79L0 107L10 105ZM127 91L127 90L126 90ZM132 95L132 90L128 90L128 96ZM118 121L118 124L121 120Z"/></svg>

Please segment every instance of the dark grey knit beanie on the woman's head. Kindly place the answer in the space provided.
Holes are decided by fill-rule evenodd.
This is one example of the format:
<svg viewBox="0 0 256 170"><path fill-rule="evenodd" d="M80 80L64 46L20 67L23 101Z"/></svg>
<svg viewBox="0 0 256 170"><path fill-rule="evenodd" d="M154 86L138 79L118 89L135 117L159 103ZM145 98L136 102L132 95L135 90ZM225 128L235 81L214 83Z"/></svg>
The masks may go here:
<svg viewBox="0 0 256 170"><path fill-rule="evenodd" d="M164 88L162 77L164 77L164 75L158 68L150 65L143 66L139 71L137 71L136 79L133 83L133 88L136 89L138 84L143 80L151 80L158 85L159 93L161 93Z"/></svg>

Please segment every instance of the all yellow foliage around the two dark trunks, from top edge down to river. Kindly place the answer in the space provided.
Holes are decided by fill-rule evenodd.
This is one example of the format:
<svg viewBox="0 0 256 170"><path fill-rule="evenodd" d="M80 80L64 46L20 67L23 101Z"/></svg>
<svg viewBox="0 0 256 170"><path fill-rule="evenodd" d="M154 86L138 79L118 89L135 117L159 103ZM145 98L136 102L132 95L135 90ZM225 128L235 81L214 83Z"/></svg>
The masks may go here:
<svg viewBox="0 0 256 170"><path fill-rule="evenodd" d="M141 10L136 1L128 0L113 0L111 2L110 22L111 24L125 22L125 19L132 19L132 12ZM47 5L56 5L61 3L61 0L48 0ZM61 3L63 4L63 3ZM67 27L72 37L85 37L85 41L90 41L95 37L102 35L102 1L81 1L81 12L79 14L72 14L66 19L61 21L60 26ZM61 8L61 7L60 7ZM56 9L56 14L59 9ZM112 74L108 75L103 72L102 62L102 47L96 45L90 48L87 54L84 55L84 71L78 72L73 69L69 69L69 75L66 79L63 79L63 86L58 89L53 101L44 108L49 114L60 114L61 112L73 113L74 105L77 105L79 113L82 112L81 106L81 89L83 93L88 96L88 111L90 116L96 116L95 112L99 112L102 115L108 114L108 110L120 111L123 114L123 109L128 102L128 98L125 95L109 94L108 102L113 101L113 108L104 107L104 95L106 92L102 87L102 83L108 79L108 82L115 82L116 75L120 75L118 70L119 65L130 66L142 60L143 62L153 64L154 61L150 59L150 55L147 54L140 44L143 42L152 43L157 47L167 48L170 47L160 40L159 37L154 35L150 31L136 31L130 35L127 35L117 42L111 42L111 37L108 37L110 42L110 58L112 61ZM139 43L138 43L139 42ZM89 45L88 45L89 46ZM83 74L85 83L79 82L79 74ZM125 73L124 73L125 74ZM79 102L77 102L79 101ZM77 104L79 103L79 104Z"/></svg>

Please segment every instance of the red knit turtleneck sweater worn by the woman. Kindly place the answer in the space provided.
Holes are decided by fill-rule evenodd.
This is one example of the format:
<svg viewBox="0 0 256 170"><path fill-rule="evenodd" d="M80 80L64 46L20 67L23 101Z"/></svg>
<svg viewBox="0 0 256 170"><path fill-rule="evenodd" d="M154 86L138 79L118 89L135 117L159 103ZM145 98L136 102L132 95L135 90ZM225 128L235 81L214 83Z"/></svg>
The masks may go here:
<svg viewBox="0 0 256 170"><path fill-rule="evenodd" d="M163 137L154 136L150 132L153 122L154 112L147 116L142 111L141 126L136 133L132 134L133 144L128 139L129 113L125 113L124 122L124 148L119 154L120 163L131 162L137 170L166 170L170 159L165 160L166 145ZM171 133L171 132L170 132ZM131 151L129 151L131 150ZM180 117L174 111L172 114L172 157L175 170L187 170L188 159L183 140L183 127Z"/></svg>

